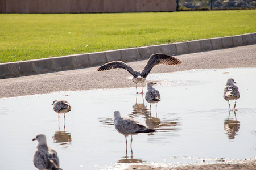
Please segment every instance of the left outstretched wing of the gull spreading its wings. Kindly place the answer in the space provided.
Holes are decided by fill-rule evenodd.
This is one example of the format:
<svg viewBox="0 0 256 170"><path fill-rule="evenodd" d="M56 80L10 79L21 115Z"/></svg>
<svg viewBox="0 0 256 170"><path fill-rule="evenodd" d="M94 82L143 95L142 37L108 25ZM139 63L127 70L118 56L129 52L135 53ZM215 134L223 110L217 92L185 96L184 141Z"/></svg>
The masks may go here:
<svg viewBox="0 0 256 170"><path fill-rule="evenodd" d="M125 69L131 75L136 77L134 70L122 61L112 61L112 62L105 63L105 65L98 67L97 71L105 71L105 70L111 70L111 69L117 69L117 68Z"/></svg>

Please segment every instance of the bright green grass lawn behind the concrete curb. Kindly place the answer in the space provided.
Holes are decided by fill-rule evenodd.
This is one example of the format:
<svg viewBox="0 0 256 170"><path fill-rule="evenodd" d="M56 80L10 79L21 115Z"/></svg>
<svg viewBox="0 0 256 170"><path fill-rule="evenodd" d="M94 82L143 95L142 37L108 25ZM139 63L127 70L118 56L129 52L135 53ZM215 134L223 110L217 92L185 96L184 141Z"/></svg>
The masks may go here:
<svg viewBox="0 0 256 170"><path fill-rule="evenodd" d="M256 10L0 14L0 62L256 32Z"/></svg>

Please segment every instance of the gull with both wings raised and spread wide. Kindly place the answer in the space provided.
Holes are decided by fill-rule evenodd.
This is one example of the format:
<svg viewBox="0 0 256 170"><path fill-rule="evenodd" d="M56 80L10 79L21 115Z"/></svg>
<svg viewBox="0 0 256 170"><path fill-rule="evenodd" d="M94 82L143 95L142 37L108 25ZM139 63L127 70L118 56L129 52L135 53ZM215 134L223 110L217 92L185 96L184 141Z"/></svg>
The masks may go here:
<svg viewBox="0 0 256 170"><path fill-rule="evenodd" d="M143 87L144 81L147 78L147 75L150 73L151 69L153 69L156 65L180 65L181 61L175 57L167 56L166 54L153 54L148 59L146 65L144 66L143 70L134 71L130 66L126 65L126 63L122 61L112 61L108 62L105 65L100 66L97 71L105 71L111 69L122 68L126 69L131 75L133 75L133 82L136 84L136 92L137 91L137 83L142 83L142 94L143 94Z"/></svg>

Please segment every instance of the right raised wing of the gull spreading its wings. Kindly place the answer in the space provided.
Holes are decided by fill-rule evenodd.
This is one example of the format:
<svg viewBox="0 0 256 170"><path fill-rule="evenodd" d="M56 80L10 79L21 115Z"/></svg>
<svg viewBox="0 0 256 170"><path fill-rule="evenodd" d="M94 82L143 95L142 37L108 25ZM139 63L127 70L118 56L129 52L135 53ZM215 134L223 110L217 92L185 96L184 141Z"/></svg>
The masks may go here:
<svg viewBox="0 0 256 170"><path fill-rule="evenodd" d="M153 69L156 65L180 65L182 62L172 56L168 56L166 54L153 54L147 61L146 66L144 67L143 71L145 76L147 76L151 69Z"/></svg>

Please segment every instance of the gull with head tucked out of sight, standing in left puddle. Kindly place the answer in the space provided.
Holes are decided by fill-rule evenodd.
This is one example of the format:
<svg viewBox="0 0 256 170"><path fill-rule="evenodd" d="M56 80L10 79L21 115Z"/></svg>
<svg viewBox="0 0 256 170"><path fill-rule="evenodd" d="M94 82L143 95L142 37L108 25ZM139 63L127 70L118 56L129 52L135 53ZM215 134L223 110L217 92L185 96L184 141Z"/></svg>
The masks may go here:
<svg viewBox="0 0 256 170"><path fill-rule="evenodd" d="M52 102L53 110L58 113L60 120L60 113L64 113L64 126L65 126L65 114L71 111L71 105L66 100L54 100Z"/></svg>

